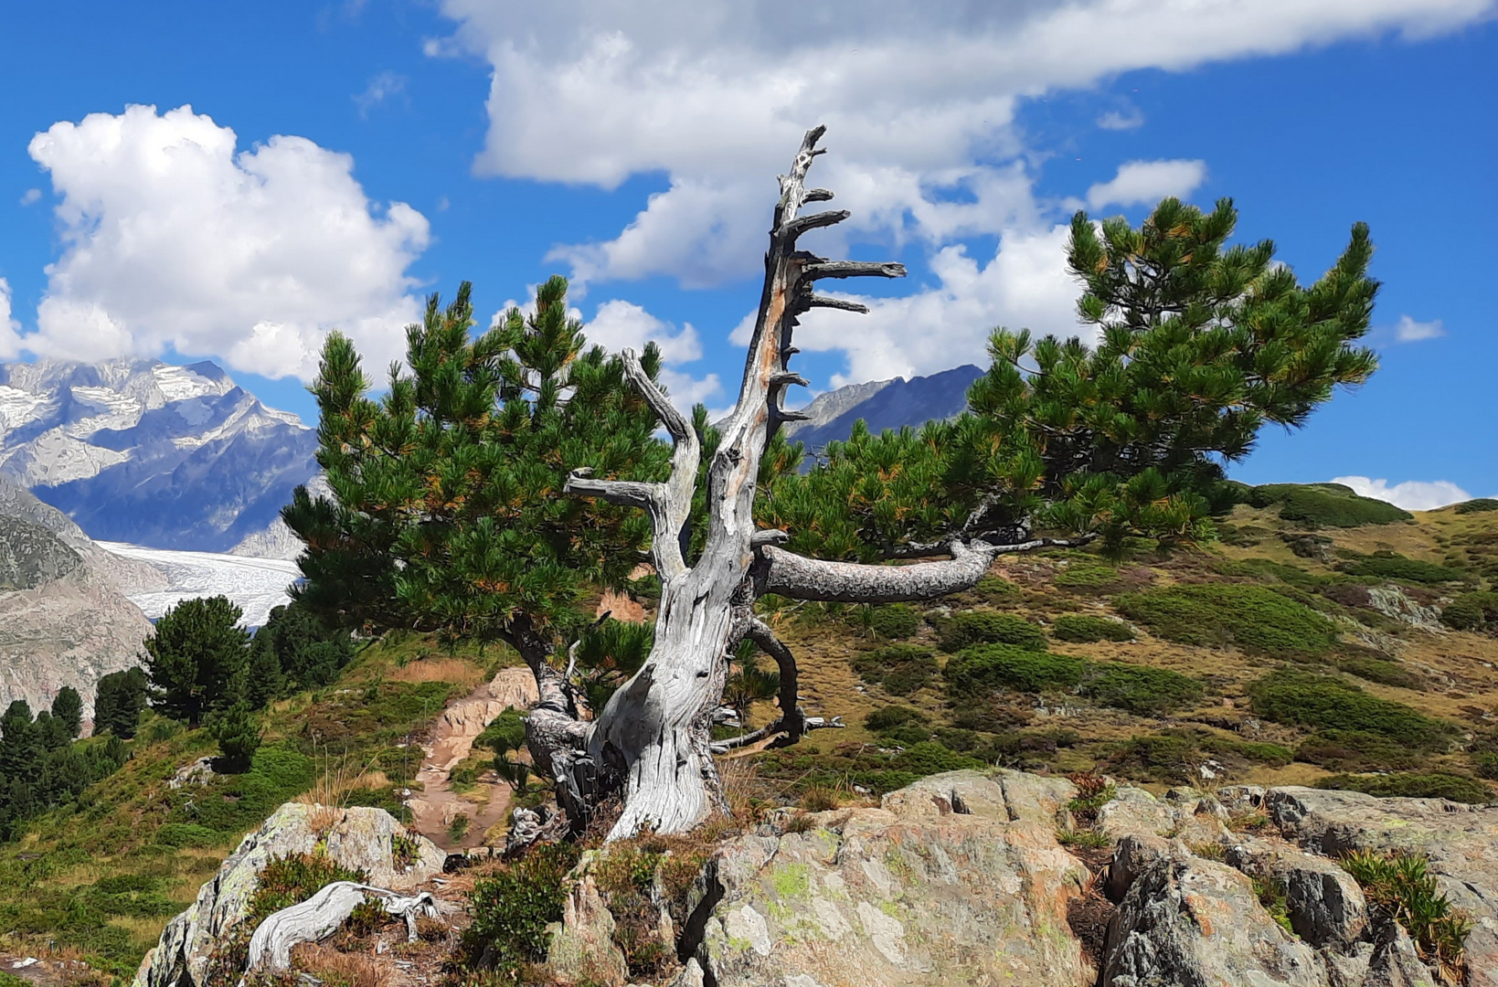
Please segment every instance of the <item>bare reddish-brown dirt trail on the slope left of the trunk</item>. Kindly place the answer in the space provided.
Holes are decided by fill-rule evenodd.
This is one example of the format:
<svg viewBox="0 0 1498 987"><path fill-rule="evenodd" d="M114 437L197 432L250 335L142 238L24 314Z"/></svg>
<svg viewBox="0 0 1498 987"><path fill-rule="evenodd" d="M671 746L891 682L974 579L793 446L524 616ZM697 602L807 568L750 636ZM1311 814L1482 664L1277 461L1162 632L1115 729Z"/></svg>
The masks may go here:
<svg viewBox="0 0 1498 987"><path fill-rule="evenodd" d="M529 668L502 668L467 696L454 699L437 717L431 737L422 744L425 758L416 780L422 791L406 800L418 833L448 852L470 849L484 842L484 833L509 810L509 785L485 771L466 795L452 791L452 768L473 750L473 738L506 707L529 708L536 701L536 680ZM461 839L448 836L452 819L467 816Z"/></svg>

